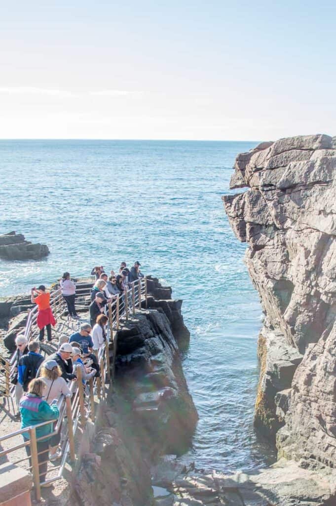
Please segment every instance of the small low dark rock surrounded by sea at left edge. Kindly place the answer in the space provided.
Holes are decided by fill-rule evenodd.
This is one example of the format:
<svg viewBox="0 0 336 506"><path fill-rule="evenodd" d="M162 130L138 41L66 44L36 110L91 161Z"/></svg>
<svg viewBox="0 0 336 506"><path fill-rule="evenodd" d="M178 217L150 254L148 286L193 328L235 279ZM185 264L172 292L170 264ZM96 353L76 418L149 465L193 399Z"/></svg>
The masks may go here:
<svg viewBox="0 0 336 506"><path fill-rule="evenodd" d="M0 235L0 258L4 260L39 260L49 253L46 244L32 244L22 234L9 232Z"/></svg>

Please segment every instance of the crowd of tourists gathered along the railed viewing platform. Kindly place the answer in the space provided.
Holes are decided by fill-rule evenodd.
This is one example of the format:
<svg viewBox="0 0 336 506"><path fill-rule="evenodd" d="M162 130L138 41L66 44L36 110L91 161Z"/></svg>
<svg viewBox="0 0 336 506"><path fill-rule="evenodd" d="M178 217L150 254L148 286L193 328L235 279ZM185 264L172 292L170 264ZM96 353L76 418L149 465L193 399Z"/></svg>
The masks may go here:
<svg viewBox="0 0 336 506"><path fill-rule="evenodd" d="M111 271L110 276L102 266L94 267L91 271L95 283L91 290L90 323L82 323L78 332L73 333L66 342L60 342L58 351L46 358L39 353L40 342L44 340L45 329L47 341L52 340L51 326L56 324L50 306L50 293L44 285L31 289L31 300L38 306L36 323L39 340L28 344L25 335L18 334L15 340L17 350L11 360L11 365L14 366L11 382L15 385L17 404L15 418L21 418L21 429L59 417L57 403L62 395L72 395L70 385L77 382L79 370L84 388L90 378L100 376L95 352L107 342L108 317L105 307L117 296L122 296L132 281L143 277L139 267L140 263L135 262L131 270L128 270L126 263L122 262L119 273L116 275ZM76 285L69 272L63 274L60 286L69 316L78 318L75 308ZM53 423L36 430L37 438L43 437L37 442L40 481L44 481L47 461L61 456L61 436L52 434L53 432ZM23 438L28 440L29 433L23 433ZM30 458L30 446L25 448Z"/></svg>

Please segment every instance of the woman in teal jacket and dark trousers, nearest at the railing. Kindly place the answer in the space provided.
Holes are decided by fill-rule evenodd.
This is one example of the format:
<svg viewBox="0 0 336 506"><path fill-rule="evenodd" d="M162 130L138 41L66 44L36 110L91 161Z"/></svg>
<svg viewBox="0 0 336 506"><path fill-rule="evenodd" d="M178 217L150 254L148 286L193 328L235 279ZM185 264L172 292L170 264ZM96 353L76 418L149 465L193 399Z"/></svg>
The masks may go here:
<svg viewBox="0 0 336 506"><path fill-rule="evenodd" d="M41 424L47 420L54 420L59 417L60 412L57 405L53 404L50 406L43 400L42 396L45 389L45 383L41 378L35 378L30 382L28 393L25 394L20 401L21 429ZM40 482L45 480L49 459L49 446L55 446L53 436L50 435L53 431L53 424L45 424L42 427L36 428L37 440L43 437L41 441L37 441L37 458L39 463L38 469ZM22 436L24 441L29 441L29 432L24 432ZM25 446L25 448L29 457L29 465L31 466L30 445ZM50 485L52 484L46 484L45 486Z"/></svg>

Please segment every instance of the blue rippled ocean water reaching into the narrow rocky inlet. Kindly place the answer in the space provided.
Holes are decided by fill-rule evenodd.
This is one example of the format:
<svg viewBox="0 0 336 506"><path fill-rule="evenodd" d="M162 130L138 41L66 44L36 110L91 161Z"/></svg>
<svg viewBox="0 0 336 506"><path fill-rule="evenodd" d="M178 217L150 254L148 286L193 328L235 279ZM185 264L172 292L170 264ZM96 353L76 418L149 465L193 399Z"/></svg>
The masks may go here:
<svg viewBox="0 0 336 506"><path fill-rule="evenodd" d="M183 299L185 376L200 420L184 457L251 469L272 457L252 426L261 307L221 196L255 142L0 141L0 233L46 243L42 261L0 261L0 296L141 262Z"/></svg>

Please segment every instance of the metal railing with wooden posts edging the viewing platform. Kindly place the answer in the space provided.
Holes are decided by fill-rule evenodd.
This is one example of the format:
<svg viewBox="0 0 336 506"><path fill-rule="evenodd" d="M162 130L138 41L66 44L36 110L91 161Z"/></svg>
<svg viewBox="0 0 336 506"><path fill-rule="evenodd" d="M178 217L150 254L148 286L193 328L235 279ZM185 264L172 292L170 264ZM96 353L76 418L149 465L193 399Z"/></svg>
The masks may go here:
<svg viewBox="0 0 336 506"><path fill-rule="evenodd" d="M51 298L51 305L54 314L56 315L61 315L65 311L62 299L63 297L60 289L56 289ZM120 326L120 319L123 317L128 319L130 313L134 314L136 309L141 309L142 302L144 302L145 307L147 307L147 278L139 278L133 283L130 283L130 286L125 289L122 296L117 296L115 300L108 304L108 307L106 308L106 313L109 318L107 326L107 341L99 350L95 350L95 355L100 368L100 377L91 378L84 386L81 371L79 368L76 369L77 380L71 382L70 387L72 395L68 397L62 396L58 402L60 415L57 420L55 419L35 426L26 427L25 429L12 432L0 438L0 445L2 447L7 446L6 449L0 451L0 459L1 457L11 455L11 462L13 464L22 465L22 462L24 462L26 469L32 472L36 500L40 500L41 498L41 486L52 483L62 477L68 457L71 462L75 461L76 453L74 438L77 428L78 426L83 428L87 419L90 418L92 421L95 419L97 406L101 401L106 399L107 391L114 379L117 331ZM25 329L25 335L28 342L34 338L38 331L36 326L36 317L37 311L35 309L29 312ZM110 351L113 351L112 364L110 364ZM7 364L8 370L10 370L8 361ZM8 380L6 375L5 378L5 385L7 386L7 383L9 383L9 376ZM54 427L54 431L48 437L59 434L61 431L61 461L59 466L51 467L49 459L46 460L48 466L47 474L52 474L53 476L41 481L41 474L39 473L39 464L41 462L38 462L37 443L43 439L45 440L45 437L37 438L36 429L53 422L56 423L56 425ZM11 443L13 438L22 436L23 433L29 434L29 440L24 440L24 442L18 444ZM17 460L17 452L26 446L30 447L31 456L25 456L22 458L21 455ZM26 466L27 460L28 466Z"/></svg>

